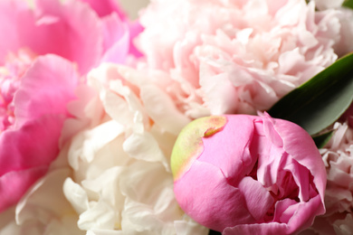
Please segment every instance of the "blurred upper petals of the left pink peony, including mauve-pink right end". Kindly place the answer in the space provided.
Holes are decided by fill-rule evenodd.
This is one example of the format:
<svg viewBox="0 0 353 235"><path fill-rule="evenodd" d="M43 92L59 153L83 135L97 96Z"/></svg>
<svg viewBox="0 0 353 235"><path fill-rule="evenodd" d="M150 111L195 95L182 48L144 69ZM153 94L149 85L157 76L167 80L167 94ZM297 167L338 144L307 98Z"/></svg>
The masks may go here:
<svg viewBox="0 0 353 235"><path fill-rule="evenodd" d="M87 2L93 6L99 3L100 8L92 9L76 0L36 0L32 8L22 0L1 1L0 64L8 53L23 48L38 55L60 55L76 62L81 73L100 61L121 63L128 53L139 56L129 45L141 26L130 23L113 1Z"/></svg>

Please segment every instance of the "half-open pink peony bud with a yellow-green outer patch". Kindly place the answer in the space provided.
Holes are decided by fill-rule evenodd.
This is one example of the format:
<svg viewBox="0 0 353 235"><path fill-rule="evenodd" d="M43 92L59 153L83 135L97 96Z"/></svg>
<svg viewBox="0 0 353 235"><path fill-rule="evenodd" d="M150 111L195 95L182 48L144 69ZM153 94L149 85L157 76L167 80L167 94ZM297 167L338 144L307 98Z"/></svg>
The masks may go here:
<svg viewBox="0 0 353 235"><path fill-rule="evenodd" d="M309 134L285 120L199 118L171 159L181 208L228 234L292 234L325 212L325 166Z"/></svg>

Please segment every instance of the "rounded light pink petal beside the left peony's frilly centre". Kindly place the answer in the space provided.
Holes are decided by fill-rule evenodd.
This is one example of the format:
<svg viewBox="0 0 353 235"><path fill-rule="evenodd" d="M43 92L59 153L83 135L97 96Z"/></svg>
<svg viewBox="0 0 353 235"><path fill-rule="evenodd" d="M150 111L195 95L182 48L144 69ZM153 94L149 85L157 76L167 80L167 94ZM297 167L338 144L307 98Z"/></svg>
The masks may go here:
<svg viewBox="0 0 353 235"><path fill-rule="evenodd" d="M78 81L77 71L70 61L56 55L39 57L14 95L16 127L43 115L66 117L66 106L75 98Z"/></svg>

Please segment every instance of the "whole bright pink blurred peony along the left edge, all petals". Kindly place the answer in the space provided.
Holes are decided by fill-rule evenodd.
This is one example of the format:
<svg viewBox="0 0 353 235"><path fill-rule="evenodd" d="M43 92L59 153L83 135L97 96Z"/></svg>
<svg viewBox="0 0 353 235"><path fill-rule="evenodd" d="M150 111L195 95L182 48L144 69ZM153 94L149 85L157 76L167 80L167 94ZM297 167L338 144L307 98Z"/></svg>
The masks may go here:
<svg viewBox="0 0 353 235"><path fill-rule="evenodd" d="M101 61L139 56L130 44L141 28L115 2L88 1L100 9L74 0L32 2L0 2L0 211L18 202L58 155L72 116L66 106L81 76Z"/></svg>

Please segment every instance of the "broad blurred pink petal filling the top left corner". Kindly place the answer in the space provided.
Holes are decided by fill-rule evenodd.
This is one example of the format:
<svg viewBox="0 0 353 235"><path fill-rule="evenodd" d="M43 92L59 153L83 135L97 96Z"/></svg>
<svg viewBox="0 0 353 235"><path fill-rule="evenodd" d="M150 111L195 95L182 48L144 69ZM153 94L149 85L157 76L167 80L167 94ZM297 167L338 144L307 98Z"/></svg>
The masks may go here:
<svg viewBox="0 0 353 235"><path fill-rule="evenodd" d="M81 73L95 66L102 53L100 21L78 1L37 0L34 10L23 1L0 5L0 61L8 51L27 47L36 54L54 53L78 63Z"/></svg>

